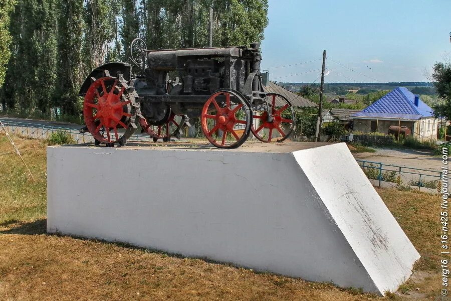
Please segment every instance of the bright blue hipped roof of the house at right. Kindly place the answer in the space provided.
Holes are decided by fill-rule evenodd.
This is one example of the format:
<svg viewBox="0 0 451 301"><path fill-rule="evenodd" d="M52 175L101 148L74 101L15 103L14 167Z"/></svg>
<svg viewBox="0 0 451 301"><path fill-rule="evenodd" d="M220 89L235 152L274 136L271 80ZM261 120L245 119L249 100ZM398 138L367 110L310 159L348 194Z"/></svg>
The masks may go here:
<svg viewBox="0 0 451 301"><path fill-rule="evenodd" d="M355 113L352 117L374 117L417 120L422 117L432 117L433 110L421 99L415 106L415 94L407 88L397 87L385 96Z"/></svg>

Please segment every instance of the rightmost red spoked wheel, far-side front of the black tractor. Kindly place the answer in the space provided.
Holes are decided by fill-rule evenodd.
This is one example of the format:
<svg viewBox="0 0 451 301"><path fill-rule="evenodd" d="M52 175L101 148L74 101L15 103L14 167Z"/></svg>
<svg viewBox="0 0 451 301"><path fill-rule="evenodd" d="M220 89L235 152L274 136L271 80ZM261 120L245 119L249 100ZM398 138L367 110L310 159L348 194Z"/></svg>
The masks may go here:
<svg viewBox="0 0 451 301"><path fill-rule="evenodd" d="M266 94L266 101L270 105L272 118L268 120L265 104L259 106L253 111L255 124L252 133L263 142L282 142L290 136L296 125L295 110L290 101L280 94Z"/></svg>

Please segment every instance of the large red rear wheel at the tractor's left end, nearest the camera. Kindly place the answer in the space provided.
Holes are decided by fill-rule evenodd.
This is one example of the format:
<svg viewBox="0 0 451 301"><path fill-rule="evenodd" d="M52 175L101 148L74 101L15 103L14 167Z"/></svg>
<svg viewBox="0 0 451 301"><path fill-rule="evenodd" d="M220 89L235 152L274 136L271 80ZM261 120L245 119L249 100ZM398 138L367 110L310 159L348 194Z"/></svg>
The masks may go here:
<svg viewBox="0 0 451 301"><path fill-rule="evenodd" d="M86 92L83 116L86 127L98 142L108 146L116 142L125 144L133 134L136 125L131 123L136 109L134 95L127 92L128 88L125 82L106 76L95 80ZM125 130L119 131L122 128Z"/></svg>

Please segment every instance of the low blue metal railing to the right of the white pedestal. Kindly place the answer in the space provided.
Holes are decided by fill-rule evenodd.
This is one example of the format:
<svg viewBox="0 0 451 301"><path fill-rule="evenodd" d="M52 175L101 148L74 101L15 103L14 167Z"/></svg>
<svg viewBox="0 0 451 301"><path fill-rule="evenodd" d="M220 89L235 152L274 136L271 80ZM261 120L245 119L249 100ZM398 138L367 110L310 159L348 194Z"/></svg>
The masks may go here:
<svg viewBox="0 0 451 301"><path fill-rule="evenodd" d="M379 187L396 187L437 193L441 185L441 172L425 169L356 160L366 176L376 180Z"/></svg>

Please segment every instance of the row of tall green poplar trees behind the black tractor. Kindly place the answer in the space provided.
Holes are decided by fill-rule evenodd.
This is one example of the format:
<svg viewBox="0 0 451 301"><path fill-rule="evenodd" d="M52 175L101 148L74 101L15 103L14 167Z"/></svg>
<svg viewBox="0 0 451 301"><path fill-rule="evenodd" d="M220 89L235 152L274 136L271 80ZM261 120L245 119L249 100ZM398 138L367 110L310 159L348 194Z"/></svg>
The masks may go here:
<svg viewBox="0 0 451 301"><path fill-rule="evenodd" d="M136 37L150 49L207 46L210 6L213 46L259 42L268 24L268 0L0 3L2 109L26 115L47 115L55 107L62 114L78 114L77 94L84 78L106 62L129 62L129 47Z"/></svg>

